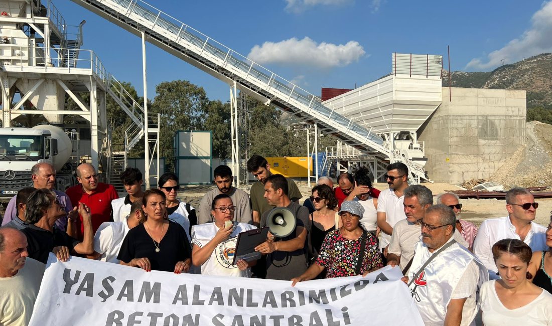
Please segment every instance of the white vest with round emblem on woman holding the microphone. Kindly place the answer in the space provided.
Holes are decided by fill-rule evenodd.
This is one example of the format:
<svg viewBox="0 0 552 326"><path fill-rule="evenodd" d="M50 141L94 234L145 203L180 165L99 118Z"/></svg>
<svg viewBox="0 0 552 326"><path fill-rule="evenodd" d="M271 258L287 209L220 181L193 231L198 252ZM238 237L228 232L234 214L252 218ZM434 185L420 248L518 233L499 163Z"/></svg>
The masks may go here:
<svg viewBox="0 0 552 326"><path fill-rule="evenodd" d="M256 228L246 223L234 222L232 233L225 241L219 243L211 256L201 265L201 274L216 276L251 277L251 269L240 270L237 265L232 265L238 233ZM192 227L192 244L203 248L214 237L219 227L215 223L205 223Z"/></svg>

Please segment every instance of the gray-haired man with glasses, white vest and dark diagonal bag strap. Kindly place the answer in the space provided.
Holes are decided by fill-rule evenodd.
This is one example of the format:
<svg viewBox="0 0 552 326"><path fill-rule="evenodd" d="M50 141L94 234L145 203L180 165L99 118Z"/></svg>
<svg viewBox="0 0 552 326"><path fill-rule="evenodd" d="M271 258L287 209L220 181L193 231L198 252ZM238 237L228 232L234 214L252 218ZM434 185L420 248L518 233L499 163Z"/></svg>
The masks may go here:
<svg viewBox="0 0 552 326"><path fill-rule="evenodd" d="M485 266L454 240L455 224L450 207L427 208L420 221L422 242L403 277L426 326L470 325L479 310L477 292L489 280Z"/></svg>

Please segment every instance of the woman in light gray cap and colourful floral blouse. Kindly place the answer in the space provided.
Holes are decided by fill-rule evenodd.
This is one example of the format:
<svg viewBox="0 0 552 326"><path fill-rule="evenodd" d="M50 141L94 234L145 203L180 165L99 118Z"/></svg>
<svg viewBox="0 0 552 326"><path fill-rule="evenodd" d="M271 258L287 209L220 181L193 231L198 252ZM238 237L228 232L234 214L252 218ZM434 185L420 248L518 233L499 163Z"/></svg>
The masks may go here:
<svg viewBox="0 0 552 326"><path fill-rule="evenodd" d="M356 201L344 201L339 210L343 226L326 236L316 263L301 276L291 279L297 282L314 279L327 269L326 279L367 274L383 267L378 240L359 225L364 209Z"/></svg>

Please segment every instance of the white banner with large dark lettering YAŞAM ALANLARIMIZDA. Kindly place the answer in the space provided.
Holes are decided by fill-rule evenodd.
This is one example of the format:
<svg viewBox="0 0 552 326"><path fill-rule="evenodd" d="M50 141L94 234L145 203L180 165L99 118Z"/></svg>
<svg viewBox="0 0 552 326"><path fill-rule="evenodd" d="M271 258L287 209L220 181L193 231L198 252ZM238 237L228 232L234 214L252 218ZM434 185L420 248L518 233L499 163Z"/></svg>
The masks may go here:
<svg viewBox="0 0 552 326"><path fill-rule="evenodd" d="M399 268L300 282L48 260L31 326L423 325Z"/></svg>

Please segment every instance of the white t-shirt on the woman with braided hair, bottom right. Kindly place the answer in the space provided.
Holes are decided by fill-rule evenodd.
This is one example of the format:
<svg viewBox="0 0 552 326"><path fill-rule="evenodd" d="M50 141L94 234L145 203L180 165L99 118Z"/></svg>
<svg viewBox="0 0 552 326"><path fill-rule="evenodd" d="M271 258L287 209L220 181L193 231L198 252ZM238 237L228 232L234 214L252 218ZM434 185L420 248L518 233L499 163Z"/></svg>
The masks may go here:
<svg viewBox="0 0 552 326"><path fill-rule="evenodd" d="M552 295L543 290L535 300L517 309L506 308L496 294L496 280L481 286L481 312L485 326L552 325Z"/></svg>

